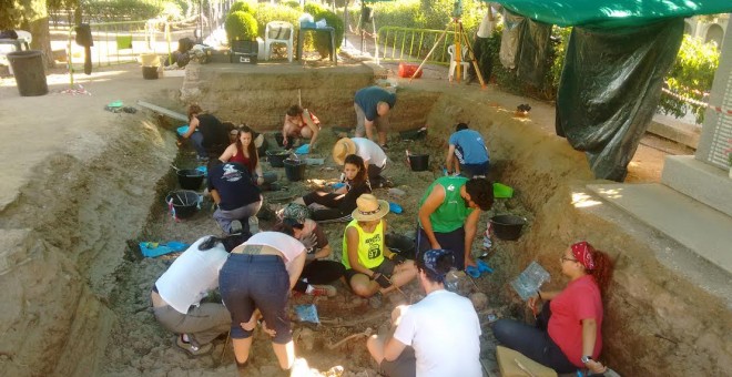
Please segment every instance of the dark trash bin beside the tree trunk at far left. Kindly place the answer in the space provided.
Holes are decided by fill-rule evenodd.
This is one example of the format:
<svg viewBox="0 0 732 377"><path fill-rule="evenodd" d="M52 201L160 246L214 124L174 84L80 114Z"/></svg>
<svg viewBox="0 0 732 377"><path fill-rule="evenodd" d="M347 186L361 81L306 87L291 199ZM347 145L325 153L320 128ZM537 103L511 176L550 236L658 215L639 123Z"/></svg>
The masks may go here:
<svg viewBox="0 0 732 377"><path fill-rule="evenodd" d="M45 82L45 68L41 51L27 50L8 53L8 61L12 67L18 83L18 91L22 96L43 95L49 92Z"/></svg>

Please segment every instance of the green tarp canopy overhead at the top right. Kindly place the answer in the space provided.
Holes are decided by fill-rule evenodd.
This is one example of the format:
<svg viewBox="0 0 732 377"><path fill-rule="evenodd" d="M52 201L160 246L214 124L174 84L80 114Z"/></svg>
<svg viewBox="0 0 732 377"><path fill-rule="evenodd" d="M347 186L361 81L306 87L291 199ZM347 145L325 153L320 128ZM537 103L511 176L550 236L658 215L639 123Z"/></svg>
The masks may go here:
<svg viewBox="0 0 732 377"><path fill-rule="evenodd" d="M560 27L618 28L667 18L732 12L732 0L497 0L506 9Z"/></svg>

